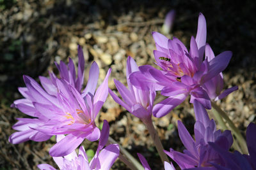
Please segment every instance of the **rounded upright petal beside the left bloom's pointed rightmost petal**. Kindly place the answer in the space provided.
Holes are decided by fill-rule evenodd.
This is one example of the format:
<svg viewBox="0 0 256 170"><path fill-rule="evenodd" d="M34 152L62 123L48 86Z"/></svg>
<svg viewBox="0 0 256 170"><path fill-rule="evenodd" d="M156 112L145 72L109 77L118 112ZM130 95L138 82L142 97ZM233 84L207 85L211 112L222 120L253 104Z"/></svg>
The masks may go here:
<svg viewBox="0 0 256 170"><path fill-rule="evenodd" d="M83 90L83 94L91 93L92 95L94 95L95 89L97 87L98 78L99 66L96 62L93 62L89 72L89 79L86 88Z"/></svg>

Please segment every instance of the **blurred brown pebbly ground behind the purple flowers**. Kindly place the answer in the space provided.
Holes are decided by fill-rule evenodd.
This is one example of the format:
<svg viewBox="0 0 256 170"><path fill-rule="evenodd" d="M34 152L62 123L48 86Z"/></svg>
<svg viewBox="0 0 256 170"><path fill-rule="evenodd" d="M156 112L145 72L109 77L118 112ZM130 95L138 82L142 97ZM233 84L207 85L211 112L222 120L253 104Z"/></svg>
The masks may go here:
<svg viewBox="0 0 256 170"><path fill-rule="evenodd" d="M100 67L99 83L109 67L113 69L109 87L115 90L113 78L126 83L127 56L141 66L154 65L155 49L152 31L161 32L164 17L176 11L168 38L179 38L189 46L196 36L198 13L207 21L207 43L216 55L233 52L224 71L225 87L237 85L239 90L218 104L227 111L241 132L255 122L256 111L256 32L255 1L118 1L118 0L0 0L0 169L36 169L47 163L56 167L49 156L55 143L28 141L19 145L8 143L15 118L26 117L10 108L20 99L17 87L24 87L22 75L35 80L47 76L49 70L58 73L54 61L67 62L71 57L77 63L77 44L83 46L86 77L95 60ZM156 66L154 66L156 67ZM160 97L161 99L161 97ZM159 101L160 99L157 99ZM108 120L111 137L136 156L142 153L152 169L161 169L161 160L150 136L138 118L108 97L99 120ZM154 118L164 149L182 151L177 133L177 120L182 120L193 134L193 107L188 100L163 118ZM97 143L84 141L86 149L97 148ZM117 161L113 169L126 169Z"/></svg>

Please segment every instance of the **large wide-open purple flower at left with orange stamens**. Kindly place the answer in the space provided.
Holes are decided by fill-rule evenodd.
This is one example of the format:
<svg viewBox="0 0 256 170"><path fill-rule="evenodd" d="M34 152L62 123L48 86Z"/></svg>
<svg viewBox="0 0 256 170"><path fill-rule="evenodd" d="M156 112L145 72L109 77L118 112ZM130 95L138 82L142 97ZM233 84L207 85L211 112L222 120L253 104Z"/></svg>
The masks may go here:
<svg viewBox="0 0 256 170"><path fill-rule="evenodd" d="M40 76L44 89L33 78L24 76L26 87L19 88L19 91L25 99L14 101L13 106L33 118L18 118L19 122L13 125L13 129L19 132L10 136L10 143L45 141L52 135L67 134L50 150L53 157L60 157L75 150L85 138L90 141L99 139L100 131L94 120L108 97L108 77L111 69L95 92L99 67L93 62L87 86L81 92L84 69L81 47L78 48L78 53L76 81L72 60L68 63L68 69L63 62L58 66L61 79L56 78L53 73L49 73L51 79Z"/></svg>

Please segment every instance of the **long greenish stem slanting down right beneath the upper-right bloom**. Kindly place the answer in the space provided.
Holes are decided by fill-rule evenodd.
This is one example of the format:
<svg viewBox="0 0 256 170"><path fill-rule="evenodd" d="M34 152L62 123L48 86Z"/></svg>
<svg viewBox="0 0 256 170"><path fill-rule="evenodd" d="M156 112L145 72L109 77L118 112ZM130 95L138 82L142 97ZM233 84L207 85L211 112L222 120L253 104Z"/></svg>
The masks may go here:
<svg viewBox="0 0 256 170"><path fill-rule="evenodd" d="M246 141L244 140L241 132L239 131L239 129L237 129L236 125L234 125L234 123L232 122L232 120L230 120L230 118L228 118L228 115L225 113L225 111L221 110L221 108L214 102L212 102L212 107L214 108L214 110L216 110L220 116L222 118L224 118L224 120L226 120L226 122L228 123L230 129L232 132L234 132L234 135L236 136L236 139L241 147L241 150L244 154L248 154L248 149L246 146Z"/></svg>

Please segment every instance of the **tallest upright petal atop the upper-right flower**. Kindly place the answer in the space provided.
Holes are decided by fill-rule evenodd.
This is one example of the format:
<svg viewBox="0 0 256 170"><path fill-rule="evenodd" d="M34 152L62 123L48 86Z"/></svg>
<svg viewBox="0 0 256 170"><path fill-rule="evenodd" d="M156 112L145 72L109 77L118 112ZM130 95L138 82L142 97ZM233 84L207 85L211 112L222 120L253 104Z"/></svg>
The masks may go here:
<svg viewBox="0 0 256 170"><path fill-rule="evenodd" d="M199 13L198 26L197 26L197 32L196 32L196 44L198 46L200 59L203 59L204 57L206 33L207 31L206 31L205 17L202 13Z"/></svg>

